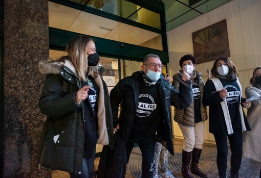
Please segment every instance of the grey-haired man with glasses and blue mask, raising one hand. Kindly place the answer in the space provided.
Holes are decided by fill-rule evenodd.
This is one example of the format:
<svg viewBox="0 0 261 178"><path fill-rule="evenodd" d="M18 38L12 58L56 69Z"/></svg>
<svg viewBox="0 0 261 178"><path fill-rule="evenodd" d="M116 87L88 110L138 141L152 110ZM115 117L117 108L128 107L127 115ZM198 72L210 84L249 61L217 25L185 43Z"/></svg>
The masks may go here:
<svg viewBox="0 0 261 178"><path fill-rule="evenodd" d="M126 148L127 162L135 143L142 153L142 177L153 177L155 142L161 142L170 154L173 143L170 130L170 105L186 108L192 101L190 76L183 72L180 91L164 79L157 55L145 57L141 70L126 77L111 90L114 131ZM118 110L121 106L120 116Z"/></svg>

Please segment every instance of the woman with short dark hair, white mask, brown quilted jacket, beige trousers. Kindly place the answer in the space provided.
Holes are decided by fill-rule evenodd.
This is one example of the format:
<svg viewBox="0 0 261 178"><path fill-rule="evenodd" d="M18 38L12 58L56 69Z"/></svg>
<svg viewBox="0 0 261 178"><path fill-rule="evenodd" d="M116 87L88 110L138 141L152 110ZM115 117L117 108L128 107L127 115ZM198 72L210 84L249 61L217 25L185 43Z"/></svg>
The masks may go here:
<svg viewBox="0 0 261 178"><path fill-rule="evenodd" d="M194 70L196 63L197 60L192 55L185 55L180 59L180 67L187 71L191 77L193 99L190 106L186 109L179 110L175 108L174 116L174 120L178 122L184 137L182 148L182 174L185 178L193 177L191 173L200 177L207 177L198 167L203 147L207 111L206 106L202 104L205 82L201 77L202 73ZM173 76L175 80L173 80L172 85L179 90L180 83L176 80L176 75Z"/></svg>

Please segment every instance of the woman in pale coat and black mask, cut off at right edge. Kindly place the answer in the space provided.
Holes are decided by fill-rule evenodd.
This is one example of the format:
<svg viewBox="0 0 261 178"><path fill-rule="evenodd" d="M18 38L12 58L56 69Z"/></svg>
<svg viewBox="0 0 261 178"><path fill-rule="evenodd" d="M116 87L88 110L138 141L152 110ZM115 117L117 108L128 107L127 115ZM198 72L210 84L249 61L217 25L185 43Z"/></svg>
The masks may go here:
<svg viewBox="0 0 261 178"><path fill-rule="evenodd" d="M243 156L261 162L261 66L254 69L250 84L252 87L247 87L245 94L251 100L251 106L247 110L251 131L243 134Z"/></svg>

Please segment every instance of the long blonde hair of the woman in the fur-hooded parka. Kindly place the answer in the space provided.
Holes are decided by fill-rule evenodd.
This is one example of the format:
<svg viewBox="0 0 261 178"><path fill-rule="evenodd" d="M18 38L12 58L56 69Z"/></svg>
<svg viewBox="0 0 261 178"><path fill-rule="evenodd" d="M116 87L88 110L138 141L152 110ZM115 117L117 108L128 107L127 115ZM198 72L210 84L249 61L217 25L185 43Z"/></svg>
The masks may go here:
<svg viewBox="0 0 261 178"><path fill-rule="evenodd" d="M86 75L92 75L94 78L99 75L97 66L88 66L86 47L90 41L94 40L89 36L76 36L69 42L66 48L68 57L75 67L76 74L84 82L87 82Z"/></svg>

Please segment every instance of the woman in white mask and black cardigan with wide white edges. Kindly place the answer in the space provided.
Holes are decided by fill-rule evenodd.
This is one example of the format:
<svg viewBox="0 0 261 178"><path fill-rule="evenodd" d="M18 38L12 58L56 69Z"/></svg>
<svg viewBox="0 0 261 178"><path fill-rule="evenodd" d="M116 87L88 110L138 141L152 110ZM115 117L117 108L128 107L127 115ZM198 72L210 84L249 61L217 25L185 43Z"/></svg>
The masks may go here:
<svg viewBox="0 0 261 178"><path fill-rule="evenodd" d="M220 177L226 177L229 140L230 176L239 177L242 160L243 134L250 130L241 107L242 87L235 65L228 58L216 59L211 69L212 78L206 82L203 104L209 106L209 132L214 135ZM247 103L244 104L244 106Z"/></svg>

